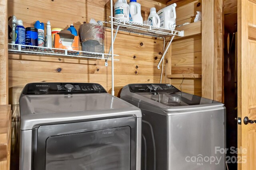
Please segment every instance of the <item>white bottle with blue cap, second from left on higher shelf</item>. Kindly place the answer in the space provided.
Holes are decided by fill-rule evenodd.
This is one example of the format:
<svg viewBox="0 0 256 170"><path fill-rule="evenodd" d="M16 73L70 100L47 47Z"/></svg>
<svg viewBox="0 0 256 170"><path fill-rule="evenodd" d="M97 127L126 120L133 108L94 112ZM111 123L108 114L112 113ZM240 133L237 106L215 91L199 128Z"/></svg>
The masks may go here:
<svg viewBox="0 0 256 170"><path fill-rule="evenodd" d="M137 0L130 0L130 21L143 23L143 18L141 16L141 5Z"/></svg>

